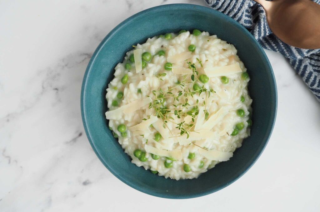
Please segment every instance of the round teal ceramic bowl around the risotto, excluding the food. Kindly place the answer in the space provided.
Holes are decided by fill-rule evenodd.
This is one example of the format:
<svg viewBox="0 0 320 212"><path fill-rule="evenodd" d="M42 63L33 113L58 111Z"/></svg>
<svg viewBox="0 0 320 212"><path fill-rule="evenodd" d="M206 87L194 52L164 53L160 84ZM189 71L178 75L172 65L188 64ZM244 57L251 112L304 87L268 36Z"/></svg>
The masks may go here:
<svg viewBox="0 0 320 212"><path fill-rule="evenodd" d="M147 38L181 29L200 29L235 45L250 74L253 99L251 136L244 140L227 162L197 179L172 180L154 175L131 163L108 128L105 99L116 64L132 45ZM271 135L277 109L276 82L266 54L254 37L228 16L203 6L169 4L150 8L126 19L114 28L94 52L84 74L81 113L84 129L100 161L127 185L158 197L184 199L216 192L241 177L258 159Z"/></svg>

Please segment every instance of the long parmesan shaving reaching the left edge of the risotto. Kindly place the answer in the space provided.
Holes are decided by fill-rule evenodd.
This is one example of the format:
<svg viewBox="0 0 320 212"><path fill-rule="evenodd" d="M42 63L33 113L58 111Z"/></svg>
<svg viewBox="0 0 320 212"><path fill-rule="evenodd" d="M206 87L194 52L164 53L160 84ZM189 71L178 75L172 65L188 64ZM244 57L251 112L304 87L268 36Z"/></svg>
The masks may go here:
<svg viewBox="0 0 320 212"><path fill-rule="evenodd" d="M107 119L119 119L122 116L122 113L129 114L132 113L141 107L145 106L146 104L149 104L152 102L152 99L150 97L144 98L142 101L141 99L135 100L129 104L126 104L120 108L117 108L116 110L110 110L106 112L106 118Z"/></svg>

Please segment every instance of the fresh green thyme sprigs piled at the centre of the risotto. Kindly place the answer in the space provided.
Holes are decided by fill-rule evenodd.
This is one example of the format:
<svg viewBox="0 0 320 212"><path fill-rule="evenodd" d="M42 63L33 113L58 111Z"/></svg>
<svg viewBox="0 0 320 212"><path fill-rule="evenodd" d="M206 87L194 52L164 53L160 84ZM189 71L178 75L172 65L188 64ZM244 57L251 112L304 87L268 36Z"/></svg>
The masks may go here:
<svg viewBox="0 0 320 212"><path fill-rule="evenodd" d="M196 58L198 64L203 67L202 61L199 58ZM188 68L191 69L192 74L186 74L183 76L183 80L178 81L177 85L174 87L168 87L168 90L164 91L161 88L156 91L153 90L152 94L155 96L155 100L149 104L149 109L153 109L152 113L155 114L158 118L161 118L164 121L163 127L168 128L167 123L172 122L176 125L176 129L180 130L180 136L187 134L189 138L189 131L194 127L192 123L186 123L182 120L180 123L175 122L175 118L184 119L187 116L191 116L191 120L194 123L196 116L199 114L199 106L205 106L204 114L205 119L208 118L209 112L206 109L207 98L210 97L212 93L215 93L211 87L206 88L204 84L198 79L199 72L196 69L196 64L186 60ZM163 81L162 77L166 76L166 73L159 73L156 75L157 78ZM200 88L195 90L195 83L200 84ZM191 84L191 87L189 86ZM195 105L190 105L189 98L194 97L194 95L201 95L205 93L205 100L202 103L199 103L199 100L196 100ZM174 108L167 105L168 99L172 99L172 105ZM175 103L175 102L178 103ZM193 108L190 110L190 108ZM174 111L172 113L172 110ZM168 128L169 129L169 128ZM169 129L170 130L170 129ZM170 131L171 132L171 131Z"/></svg>

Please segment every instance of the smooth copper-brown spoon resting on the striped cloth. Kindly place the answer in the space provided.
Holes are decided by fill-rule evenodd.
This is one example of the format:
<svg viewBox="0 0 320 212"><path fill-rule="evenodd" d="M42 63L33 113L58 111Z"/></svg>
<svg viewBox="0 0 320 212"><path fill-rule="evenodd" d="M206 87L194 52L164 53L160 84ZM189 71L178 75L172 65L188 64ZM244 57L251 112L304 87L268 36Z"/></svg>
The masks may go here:
<svg viewBox="0 0 320 212"><path fill-rule="evenodd" d="M311 0L254 0L266 11L271 31L302 49L320 48L320 5Z"/></svg>

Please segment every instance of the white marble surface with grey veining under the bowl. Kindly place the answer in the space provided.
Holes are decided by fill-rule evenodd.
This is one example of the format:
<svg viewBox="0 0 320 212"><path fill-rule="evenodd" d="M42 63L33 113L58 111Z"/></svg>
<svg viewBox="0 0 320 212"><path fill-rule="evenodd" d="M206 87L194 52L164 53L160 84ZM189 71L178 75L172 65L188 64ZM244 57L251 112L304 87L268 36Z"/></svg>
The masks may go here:
<svg viewBox="0 0 320 212"><path fill-rule="evenodd" d="M0 1L0 211L319 211L320 102L267 51L278 115L255 165L227 188L168 200L134 190L94 154L80 116L89 59L141 10L203 0Z"/></svg>

